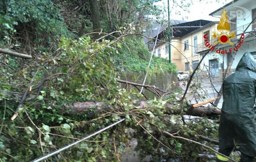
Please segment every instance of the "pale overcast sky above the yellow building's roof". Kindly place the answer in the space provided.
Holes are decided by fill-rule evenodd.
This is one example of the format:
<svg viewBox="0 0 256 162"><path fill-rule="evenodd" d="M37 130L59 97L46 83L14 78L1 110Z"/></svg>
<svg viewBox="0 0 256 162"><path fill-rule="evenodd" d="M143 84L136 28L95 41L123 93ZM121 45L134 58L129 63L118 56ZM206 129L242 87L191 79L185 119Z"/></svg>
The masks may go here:
<svg viewBox="0 0 256 162"><path fill-rule="evenodd" d="M186 4L186 2L191 2L191 0L177 0ZM210 13L224 6L225 4L231 2L232 0L192 0L193 4L187 7L188 11L183 11L180 7L175 6L173 4L173 0L170 0L171 9L171 19L173 20L186 20L186 21L194 21L198 19L205 19L210 21L220 21L220 18L209 16ZM168 19L168 5L167 0L162 0L160 2L156 2L155 4L161 6L166 9L164 19ZM180 13L180 15L179 15Z"/></svg>

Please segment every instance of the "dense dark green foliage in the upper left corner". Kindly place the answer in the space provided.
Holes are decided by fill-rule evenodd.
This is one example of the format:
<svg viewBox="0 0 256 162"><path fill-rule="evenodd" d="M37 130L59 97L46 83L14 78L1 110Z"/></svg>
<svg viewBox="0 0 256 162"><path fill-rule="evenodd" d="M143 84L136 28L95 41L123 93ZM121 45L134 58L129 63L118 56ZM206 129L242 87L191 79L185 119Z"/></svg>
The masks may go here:
<svg viewBox="0 0 256 162"><path fill-rule="evenodd" d="M63 19L51 0L5 0L0 5L0 29L5 43L16 37L23 47L31 46L33 50L42 50L38 45L49 45L58 36L68 34ZM24 41L24 38L26 41Z"/></svg>

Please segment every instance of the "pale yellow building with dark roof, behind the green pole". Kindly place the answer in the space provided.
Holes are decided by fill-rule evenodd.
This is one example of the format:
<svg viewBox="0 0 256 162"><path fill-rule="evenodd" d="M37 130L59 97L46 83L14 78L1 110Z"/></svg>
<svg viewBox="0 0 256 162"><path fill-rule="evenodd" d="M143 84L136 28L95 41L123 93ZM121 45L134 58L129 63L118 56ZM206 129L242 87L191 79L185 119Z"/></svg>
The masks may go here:
<svg viewBox="0 0 256 162"><path fill-rule="evenodd" d="M218 22L196 20L172 26L171 62L176 64L179 71L189 72L198 65L200 61L198 52L206 50L203 45L203 36L208 34L208 38L211 38L212 32L217 31L217 25ZM166 31L160 32L158 39L168 42ZM169 47L166 42L158 40L154 55L169 59ZM151 45L150 47L149 51L152 52L153 46Z"/></svg>

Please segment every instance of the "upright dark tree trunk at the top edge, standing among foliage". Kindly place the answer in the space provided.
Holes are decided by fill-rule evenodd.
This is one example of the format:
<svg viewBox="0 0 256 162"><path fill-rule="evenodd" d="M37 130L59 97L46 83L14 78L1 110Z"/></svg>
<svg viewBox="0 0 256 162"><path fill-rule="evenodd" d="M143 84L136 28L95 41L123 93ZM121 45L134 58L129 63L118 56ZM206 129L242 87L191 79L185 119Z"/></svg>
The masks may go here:
<svg viewBox="0 0 256 162"><path fill-rule="evenodd" d="M91 9L91 20L94 32L100 32L100 15L98 8L98 0L89 0ZM95 38L99 38L99 34L94 34Z"/></svg>

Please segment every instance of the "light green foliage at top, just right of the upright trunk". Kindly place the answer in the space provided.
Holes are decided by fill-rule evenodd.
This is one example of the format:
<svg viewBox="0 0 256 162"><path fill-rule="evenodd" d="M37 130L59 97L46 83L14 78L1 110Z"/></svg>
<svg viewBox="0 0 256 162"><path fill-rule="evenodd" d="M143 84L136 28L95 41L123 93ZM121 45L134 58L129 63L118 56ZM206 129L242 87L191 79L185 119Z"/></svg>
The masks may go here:
<svg viewBox="0 0 256 162"><path fill-rule="evenodd" d="M142 21L154 15L159 17L162 10L154 4L159 0L100 0L101 24L105 32L118 30L124 24L133 23L140 30Z"/></svg>

